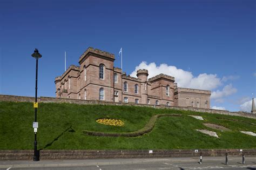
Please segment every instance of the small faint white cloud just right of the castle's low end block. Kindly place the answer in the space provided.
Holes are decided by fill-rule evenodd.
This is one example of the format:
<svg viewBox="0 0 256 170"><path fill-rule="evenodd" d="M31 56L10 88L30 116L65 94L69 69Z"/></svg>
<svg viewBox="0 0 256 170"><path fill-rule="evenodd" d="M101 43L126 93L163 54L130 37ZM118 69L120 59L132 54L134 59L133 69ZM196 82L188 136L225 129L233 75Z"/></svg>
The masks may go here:
<svg viewBox="0 0 256 170"><path fill-rule="evenodd" d="M211 99L221 99L223 97L230 96L231 94L234 94L236 92L237 89L235 89L232 84L228 84L223 87L223 90L217 90L212 92Z"/></svg>

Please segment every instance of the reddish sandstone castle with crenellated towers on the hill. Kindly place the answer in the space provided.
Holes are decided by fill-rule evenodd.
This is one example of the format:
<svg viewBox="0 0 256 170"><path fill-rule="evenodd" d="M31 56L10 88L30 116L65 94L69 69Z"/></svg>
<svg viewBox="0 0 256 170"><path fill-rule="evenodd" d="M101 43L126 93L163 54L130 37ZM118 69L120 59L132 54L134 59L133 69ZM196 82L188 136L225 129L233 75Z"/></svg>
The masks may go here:
<svg viewBox="0 0 256 170"><path fill-rule="evenodd" d="M127 76L114 67L114 55L89 47L79 66L71 65L55 78L56 97L80 100L210 108L211 91L180 88L174 77L159 74L147 78L148 71Z"/></svg>

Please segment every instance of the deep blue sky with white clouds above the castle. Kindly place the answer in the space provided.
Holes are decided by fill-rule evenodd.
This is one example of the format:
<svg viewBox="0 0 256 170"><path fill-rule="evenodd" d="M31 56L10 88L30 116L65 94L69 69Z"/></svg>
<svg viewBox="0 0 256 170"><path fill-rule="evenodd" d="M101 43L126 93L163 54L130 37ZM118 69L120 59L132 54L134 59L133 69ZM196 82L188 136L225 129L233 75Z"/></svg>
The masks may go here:
<svg viewBox="0 0 256 170"><path fill-rule="evenodd" d="M254 0L0 1L0 94L55 97L54 79L94 47L123 49L123 71L211 90L211 108L251 111L256 94ZM256 103L256 100L255 100Z"/></svg>

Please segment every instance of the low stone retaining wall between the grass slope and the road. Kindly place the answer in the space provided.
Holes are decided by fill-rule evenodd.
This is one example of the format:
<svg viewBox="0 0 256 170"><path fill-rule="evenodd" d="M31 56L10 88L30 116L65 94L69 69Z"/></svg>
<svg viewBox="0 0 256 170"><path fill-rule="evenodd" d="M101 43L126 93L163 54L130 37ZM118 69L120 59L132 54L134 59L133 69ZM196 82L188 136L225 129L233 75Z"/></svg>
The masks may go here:
<svg viewBox="0 0 256 170"><path fill-rule="evenodd" d="M161 157L218 157L228 155L256 156L256 149L172 149L172 150L42 150L40 159L104 159L104 158L161 158ZM0 150L0 160L32 160L33 150Z"/></svg>

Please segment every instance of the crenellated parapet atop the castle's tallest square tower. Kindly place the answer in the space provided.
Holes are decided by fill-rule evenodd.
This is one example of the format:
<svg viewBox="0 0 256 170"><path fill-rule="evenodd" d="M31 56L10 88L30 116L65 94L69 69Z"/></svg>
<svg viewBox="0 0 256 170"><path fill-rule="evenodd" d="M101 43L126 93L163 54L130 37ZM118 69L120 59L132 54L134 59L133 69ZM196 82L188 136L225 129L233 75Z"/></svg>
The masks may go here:
<svg viewBox="0 0 256 170"><path fill-rule="evenodd" d="M82 63L86 57L88 56L95 56L98 58L103 58L106 60L114 61L114 55L112 53L102 51L99 49L93 49L93 47L89 47L80 57L79 57L79 64Z"/></svg>

